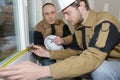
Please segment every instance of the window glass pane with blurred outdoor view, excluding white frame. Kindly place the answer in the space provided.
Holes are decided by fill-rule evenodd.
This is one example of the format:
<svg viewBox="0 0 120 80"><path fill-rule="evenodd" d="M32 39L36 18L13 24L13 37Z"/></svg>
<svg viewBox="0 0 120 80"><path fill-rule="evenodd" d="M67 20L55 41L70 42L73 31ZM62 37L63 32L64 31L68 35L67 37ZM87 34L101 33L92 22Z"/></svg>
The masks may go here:
<svg viewBox="0 0 120 80"><path fill-rule="evenodd" d="M0 62L17 52L12 0L0 0Z"/></svg>

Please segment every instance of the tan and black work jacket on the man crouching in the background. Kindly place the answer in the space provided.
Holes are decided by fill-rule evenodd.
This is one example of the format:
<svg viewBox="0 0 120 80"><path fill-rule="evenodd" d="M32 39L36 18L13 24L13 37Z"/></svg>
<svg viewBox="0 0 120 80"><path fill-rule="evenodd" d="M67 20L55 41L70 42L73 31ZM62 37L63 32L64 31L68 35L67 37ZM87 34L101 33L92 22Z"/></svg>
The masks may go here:
<svg viewBox="0 0 120 80"><path fill-rule="evenodd" d="M61 19L56 19L53 25L48 24L44 19L40 21L35 26L34 44L40 45L45 48L44 39L48 35L56 35L63 38L65 41L65 45L63 45L64 48L68 47L72 41L71 31L69 27Z"/></svg>

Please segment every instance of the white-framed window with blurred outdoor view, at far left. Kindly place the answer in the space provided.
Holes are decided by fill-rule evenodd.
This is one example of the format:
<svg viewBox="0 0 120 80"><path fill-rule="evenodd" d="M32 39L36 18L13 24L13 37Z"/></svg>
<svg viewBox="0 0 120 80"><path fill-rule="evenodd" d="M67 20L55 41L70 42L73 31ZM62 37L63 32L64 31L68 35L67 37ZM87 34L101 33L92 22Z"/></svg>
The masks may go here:
<svg viewBox="0 0 120 80"><path fill-rule="evenodd" d="M27 0L0 0L0 65L29 45L27 14Z"/></svg>

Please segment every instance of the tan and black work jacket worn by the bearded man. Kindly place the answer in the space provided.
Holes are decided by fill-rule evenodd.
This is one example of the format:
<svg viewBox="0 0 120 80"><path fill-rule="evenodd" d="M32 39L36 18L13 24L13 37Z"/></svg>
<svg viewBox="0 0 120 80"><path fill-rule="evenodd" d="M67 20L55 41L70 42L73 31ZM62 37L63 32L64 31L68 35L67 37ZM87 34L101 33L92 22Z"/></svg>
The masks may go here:
<svg viewBox="0 0 120 80"><path fill-rule="evenodd" d="M75 29L70 48L50 51L51 59L63 60L50 65L54 79L81 76L95 70L104 60L120 60L120 23L115 17L90 10L83 25L86 49L80 26Z"/></svg>

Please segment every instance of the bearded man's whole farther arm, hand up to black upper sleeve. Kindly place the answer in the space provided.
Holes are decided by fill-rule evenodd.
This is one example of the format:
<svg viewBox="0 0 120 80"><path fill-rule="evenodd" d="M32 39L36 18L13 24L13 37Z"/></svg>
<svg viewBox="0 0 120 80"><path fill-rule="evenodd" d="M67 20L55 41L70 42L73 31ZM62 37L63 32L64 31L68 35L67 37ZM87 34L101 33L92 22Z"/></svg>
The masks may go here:
<svg viewBox="0 0 120 80"><path fill-rule="evenodd" d="M79 45L76 41L76 38L75 38L75 34L74 34L73 40L72 40L69 48L67 48L67 49L46 51L41 47L34 46L34 49L32 50L32 52L34 52L36 55L41 56L41 57L50 57L51 59L63 60L70 56L80 55L82 52L82 49L79 47ZM43 55L43 53L44 53L44 55Z"/></svg>

